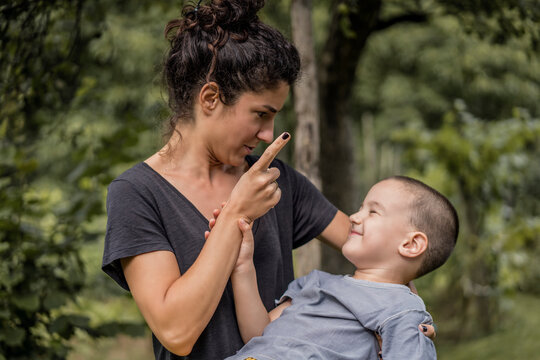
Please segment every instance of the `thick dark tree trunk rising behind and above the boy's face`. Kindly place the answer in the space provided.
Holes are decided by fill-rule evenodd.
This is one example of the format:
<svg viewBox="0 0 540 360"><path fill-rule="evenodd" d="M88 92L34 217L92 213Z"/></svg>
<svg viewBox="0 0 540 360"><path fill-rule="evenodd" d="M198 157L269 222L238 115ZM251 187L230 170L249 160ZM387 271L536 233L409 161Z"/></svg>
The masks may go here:
<svg viewBox="0 0 540 360"><path fill-rule="evenodd" d="M333 17L320 60L322 187L326 197L348 214L358 207L359 198L347 105L360 55L377 24L380 8L380 0L333 2ZM331 273L352 270L339 252L330 249L324 250L322 267Z"/></svg>

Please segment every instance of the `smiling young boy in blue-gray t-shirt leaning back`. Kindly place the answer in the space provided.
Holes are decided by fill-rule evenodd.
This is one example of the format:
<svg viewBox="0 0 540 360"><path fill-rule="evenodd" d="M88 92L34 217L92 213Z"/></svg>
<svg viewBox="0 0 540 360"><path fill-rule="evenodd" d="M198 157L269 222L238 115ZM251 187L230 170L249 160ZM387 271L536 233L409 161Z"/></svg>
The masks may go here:
<svg viewBox="0 0 540 360"><path fill-rule="evenodd" d="M342 252L354 275L313 271L290 283L269 313L257 289L253 235L239 221L243 243L231 281L247 344L227 360L377 359L374 334L384 360L436 359L418 328L431 316L406 284L450 256L459 229L454 207L422 182L395 176L375 184L350 220Z"/></svg>

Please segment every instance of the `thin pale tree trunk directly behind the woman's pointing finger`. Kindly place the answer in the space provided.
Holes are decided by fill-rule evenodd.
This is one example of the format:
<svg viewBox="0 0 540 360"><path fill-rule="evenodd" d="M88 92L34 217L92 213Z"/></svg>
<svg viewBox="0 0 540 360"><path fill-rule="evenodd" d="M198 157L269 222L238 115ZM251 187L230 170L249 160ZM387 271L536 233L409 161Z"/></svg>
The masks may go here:
<svg viewBox="0 0 540 360"><path fill-rule="evenodd" d="M311 0L293 0L291 5L293 41L302 59L302 77L294 86L294 111L297 125L294 143L295 168L318 189L319 177L319 112L317 71L311 23ZM295 250L296 276L321 267L321 246L318 241Z"/></svg>

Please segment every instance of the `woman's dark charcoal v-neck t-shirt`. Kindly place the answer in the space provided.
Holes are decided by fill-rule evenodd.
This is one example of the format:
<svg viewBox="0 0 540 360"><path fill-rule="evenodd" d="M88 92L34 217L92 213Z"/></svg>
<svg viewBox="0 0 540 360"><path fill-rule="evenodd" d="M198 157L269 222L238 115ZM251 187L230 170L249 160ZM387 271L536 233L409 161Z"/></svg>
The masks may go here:
<svg viewBox="0 0 540 360"><path fill-rule="evenodd" d="M257 157L246 158L251 166ZM292 249L326 228L336 214L321 193L301 174L279 160L280 202L253 224L254 262L263 303L268 310L294 280ZM197 259L208 220L174 186L145 163L127 170L109 186L103 271L128 289L120 259L165 250L175 254L181 273ZM153 337L156 359L182 359ZM243 345L229 282L210 323L183 359L223 359Z"/></svg>

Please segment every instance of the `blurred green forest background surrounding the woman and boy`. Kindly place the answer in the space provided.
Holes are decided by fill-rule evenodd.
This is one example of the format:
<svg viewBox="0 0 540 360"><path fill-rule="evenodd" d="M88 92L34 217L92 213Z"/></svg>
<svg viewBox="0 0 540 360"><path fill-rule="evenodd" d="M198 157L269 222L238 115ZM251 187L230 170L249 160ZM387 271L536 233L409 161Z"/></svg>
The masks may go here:
<svg viewBox="0 0 540 360"><path fill-rule="evenodd" d="M416 282L439 358L540 358L540 3L268 0L261 18L289 38L292 4L312 21L310 161L326 196L351 213L405 174L458 208L454 254ZM152 358L134 302L100 269L104 203L160 148L163 29L180 8L0 4L0 359ZM293 141L298 94L276 121ZM305 148L280 157L302 168Z"/></svg>

